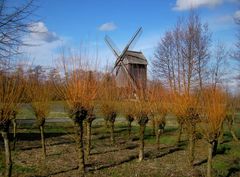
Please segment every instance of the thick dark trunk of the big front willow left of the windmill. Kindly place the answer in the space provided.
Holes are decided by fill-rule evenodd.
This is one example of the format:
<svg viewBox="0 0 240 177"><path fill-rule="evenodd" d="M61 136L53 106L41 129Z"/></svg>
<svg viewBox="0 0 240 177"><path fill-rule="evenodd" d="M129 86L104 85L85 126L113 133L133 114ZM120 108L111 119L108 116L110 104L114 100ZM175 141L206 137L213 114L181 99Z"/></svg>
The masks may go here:
<svg viewBox="0 0 240 177"><path fill-rule="evenodd" d="M85 173L85 159L84 159L84 148L83 148L83 120L75 122L75 134L76 143L78 146L78 156L79 156L79 176L83 177Z"/></svg>

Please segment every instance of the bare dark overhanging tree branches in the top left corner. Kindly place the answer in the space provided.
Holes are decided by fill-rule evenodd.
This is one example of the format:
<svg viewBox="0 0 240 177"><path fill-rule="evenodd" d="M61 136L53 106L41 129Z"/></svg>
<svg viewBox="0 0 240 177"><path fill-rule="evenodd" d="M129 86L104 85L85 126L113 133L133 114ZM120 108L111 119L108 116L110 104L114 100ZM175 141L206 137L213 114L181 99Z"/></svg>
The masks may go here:
<svg viewBox="0 0 240 177"><path fill-rule="evenodd" d="M36 10L34 0L26 0L18 6L10 3L0 1L0 60L19 53L19 47L25 44L23 36L32 31Z"/></svg>

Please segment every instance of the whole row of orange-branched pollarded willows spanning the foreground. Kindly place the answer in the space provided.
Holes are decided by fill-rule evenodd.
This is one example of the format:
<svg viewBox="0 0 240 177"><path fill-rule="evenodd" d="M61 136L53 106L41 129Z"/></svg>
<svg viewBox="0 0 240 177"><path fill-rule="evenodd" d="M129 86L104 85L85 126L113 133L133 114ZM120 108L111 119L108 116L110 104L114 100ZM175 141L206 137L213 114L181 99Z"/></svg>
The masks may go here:
<svg viewBox="0 0 240 177"><path fill-rule="evenodd" d="M63 58L65 59L65 58ZM72 59L69 59L70 62ZM79 62L79 64L77 64ZM136 121L139 125L139 161L144 158L144 132L149 120L155 122L156 144L159 148L160 135L163 132L166 115L173 113L180 125L185 128L189 140L189 162L194 162L194 147L197 128L200 129L209 143L209 169L211 169L212 151L214 151L219 137L221 137L223 121L227 122L233 132L236 100L232 99L215 85L204 86L202 90L190 93L173 92L163 87L161 82L152 81L145 92L139 91L138 99L131 98L131 92L118 89L114 77L109 73L99 75L97 72L84 68L82 60L74 57L62 70L64 75L55 75L49 79L43 71L28 70L26 74L22 70L1 73L1 130L6 148L6 174L10 176L11 156L8 136L10 120L16 114L16 110L22 102L28 102L37 120L41 132L43 156L46 156L44 123L49 112L51 89L56 89L59 97L66 100L69 107L69 116L74 122L76 145L79 153L79 173L85 172L85 155L90 158L91 150L91 125L96 118L95 110L100 108L108 128L110 128L111 143L114 144L114 122L116 116L122 113L128 120L128 132L131 134L131 123ZM64 62L63 62L64 63ZM81 63L81 65L80 65ZM21 71L21 72L20 72ZM60 73L60 72L59 72ZM7 77L7 79L6 79ZM51 88L51 89L50 89ZM121 92L120 92L121 91ZM23 99L23 97L25 97ZM27 98L27 99L26 99ZM14 100L13 102L11 102ZM23 101L24 100L24 101ZM83 131L84 121L87 131ZM87 141L84 145L83 132L87 132ZM233 132L233 136L237 140ZM86 150L86 153L84 151ZM211 153L210 153L211 152ZM210 176L211 170L209 170Z"/></svg>

